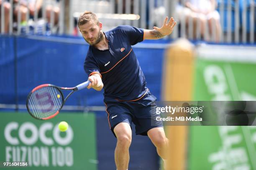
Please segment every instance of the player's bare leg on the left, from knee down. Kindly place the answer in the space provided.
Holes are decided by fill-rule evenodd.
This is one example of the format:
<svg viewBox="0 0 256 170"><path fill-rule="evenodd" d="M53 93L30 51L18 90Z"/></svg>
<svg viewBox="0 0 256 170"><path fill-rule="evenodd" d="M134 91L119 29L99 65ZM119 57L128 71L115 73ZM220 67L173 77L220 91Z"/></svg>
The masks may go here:
<svg viewBox="0 0 256 170"><path fill-rule="evenodd" d="M128 123L121 122L115 126L114 132L118 140L115 148L115 165L118 170L127 170L130 160L131 127Z"/></svg>

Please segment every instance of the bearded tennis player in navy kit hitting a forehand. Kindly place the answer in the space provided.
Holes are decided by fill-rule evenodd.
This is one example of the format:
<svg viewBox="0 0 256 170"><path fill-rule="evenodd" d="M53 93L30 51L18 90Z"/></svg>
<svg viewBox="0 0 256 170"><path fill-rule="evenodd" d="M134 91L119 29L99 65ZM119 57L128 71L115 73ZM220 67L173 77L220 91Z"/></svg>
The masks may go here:
<svg viewBox="0 0 256 170"><path fill-rule="evenodd" d="M153 30L125 25L103 32L102 23L94 13L85 11L79 17L79 30L90 44L84 61L84 70L90 80L87 88L98 91L104 88L109 127L117 138L117 170L128 169L132 122L136 135L148 135L159 156L166 159L164 150L168 139L162 122L156 121L156 97L146 87L145 77L131 46L169 35L175 25L173 18L168 22L166 17L163 26Z"/></svg>

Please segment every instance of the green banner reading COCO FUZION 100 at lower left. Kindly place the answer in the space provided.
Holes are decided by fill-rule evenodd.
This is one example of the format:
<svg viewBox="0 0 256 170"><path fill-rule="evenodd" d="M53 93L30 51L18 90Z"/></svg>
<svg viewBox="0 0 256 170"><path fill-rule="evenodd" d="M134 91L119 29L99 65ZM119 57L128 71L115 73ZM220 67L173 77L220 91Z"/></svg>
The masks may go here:
<svg viewBox="0 0 256 170"><path fill-rule="evenodd" d="M0 114L0 169L97 170L94 114L60 113L51 120ZM59 131L61 121L69 124L66 132Z"/></svg>

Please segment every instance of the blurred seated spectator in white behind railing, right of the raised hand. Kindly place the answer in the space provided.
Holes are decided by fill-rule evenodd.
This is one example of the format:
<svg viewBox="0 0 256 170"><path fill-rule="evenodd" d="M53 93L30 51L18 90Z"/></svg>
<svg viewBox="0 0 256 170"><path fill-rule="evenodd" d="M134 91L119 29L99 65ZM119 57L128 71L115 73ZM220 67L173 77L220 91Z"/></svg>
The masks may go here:
<svg viewBox="0 0 256 170"><path fill-rule="evenodd" d="M194 25L194 37L197 28L197 20L200 20L200 30L201 35L205 35L205 26L209 28L210 35L213 33L212 27L215 27L215 40L216 42L220 41L220 14L215 7L217 3L215 0L187 0L185 2L185 7L178 7L177 14L179 18L184 17L186 23L189 23L189 19L192 18ZM213 25L212 25L213 23ZM207 37L205 37L207 38Z"/></svg>

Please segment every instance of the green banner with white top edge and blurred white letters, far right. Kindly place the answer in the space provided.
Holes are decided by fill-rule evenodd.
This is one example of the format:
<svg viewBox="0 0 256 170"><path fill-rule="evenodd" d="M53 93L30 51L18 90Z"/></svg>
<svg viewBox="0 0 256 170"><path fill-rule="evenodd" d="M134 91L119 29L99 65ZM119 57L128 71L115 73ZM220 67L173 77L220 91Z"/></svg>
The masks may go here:
<svg viewBox="0 0 256 170"><path fill-rule="evenodd" d="M194 100L256 101L255 73L256 47L197 47ZM188 149L189 170L256 170L256 127L190 126Z"/></svg>

